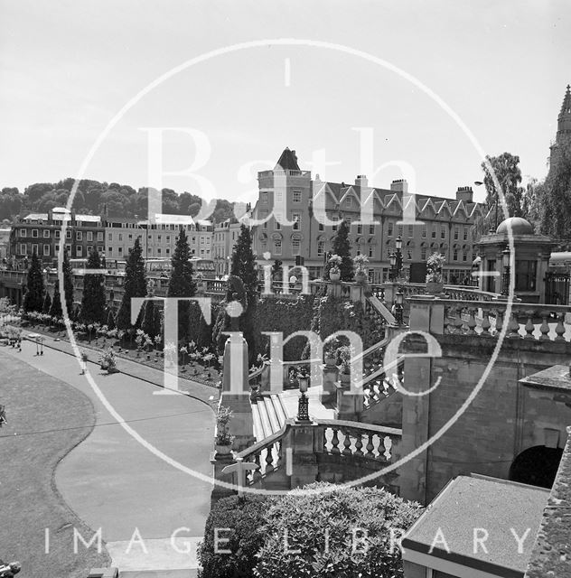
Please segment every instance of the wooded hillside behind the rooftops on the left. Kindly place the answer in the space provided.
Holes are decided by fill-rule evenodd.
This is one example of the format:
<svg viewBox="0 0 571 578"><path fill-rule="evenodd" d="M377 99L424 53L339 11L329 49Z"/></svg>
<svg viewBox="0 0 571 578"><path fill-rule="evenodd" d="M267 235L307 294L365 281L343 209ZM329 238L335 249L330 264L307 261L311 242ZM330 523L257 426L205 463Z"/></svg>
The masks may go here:
<svg viewBox="0 0 571 578"><path fill-rule="evenodd" d="M60 182L36 182L26 187L23 193L14 187L0 191L0 220L14 219L24 210L47 212L54 207L67 206L74 179ZM202 199L190 192L176 193L163 189L163 212L171 215L199 215ZM136 191L129 185L117 182L82 180L73 199L75 212L93 215L107 214L109 217L146 218L148 192L145 187ZM217 199L211 201L208 210L202 211L201 219L220 222L233 216L233 203Z"/></svg>

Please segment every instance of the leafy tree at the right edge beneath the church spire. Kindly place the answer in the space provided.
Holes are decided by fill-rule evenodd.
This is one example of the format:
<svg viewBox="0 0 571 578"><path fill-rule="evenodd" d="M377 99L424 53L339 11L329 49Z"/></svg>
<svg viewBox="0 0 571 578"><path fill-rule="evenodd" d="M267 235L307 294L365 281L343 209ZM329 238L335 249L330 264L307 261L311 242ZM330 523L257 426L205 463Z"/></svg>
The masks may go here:
<svg viewBox="0 0 571 578"><path fill-rule="evenodd" d="M571 143L559 144L541 194L541 232L571 239Z"/></svg>

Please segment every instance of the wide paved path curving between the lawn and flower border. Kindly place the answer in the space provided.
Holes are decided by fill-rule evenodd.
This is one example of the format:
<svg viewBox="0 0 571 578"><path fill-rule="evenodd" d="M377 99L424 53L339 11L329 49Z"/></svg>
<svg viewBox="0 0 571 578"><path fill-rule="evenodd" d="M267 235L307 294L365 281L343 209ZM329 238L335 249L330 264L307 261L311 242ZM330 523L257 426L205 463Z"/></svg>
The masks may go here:
<svg viewBox="0 0 571 578"><path fill-rule="evenodd" d="M70 347L57 343L59 349ZM195 546L210 510L210 481L176 470L126 433L102 405L88 379L80 376L74 357L47 347L43 356L35 353L36 346L30 341L23 341L21 353L0 348L0 355L22 359L77 387L89 396L96 410L93 433L61 461L56 471L58 489L70 508L89 527L101 527L114 564L123 570L195 568ZM125 364L137 365L119 361L120 367ZM160 371L144 370L149 380L156 374L162 378ZM210 478L214 414L209 406L213 400L209 398L217 396L215 389L196 384L192 392L195 397L157 396L155 392L164 390L149 381L124 373L102 375L94 363L89 363L89 372L136 433L173 460ZM185 528L179 530L175 540L176 549L181 552L171 543L178 528ZM136 541L128 551L136 529L147 554L141 542ZM184 553L185 550L189 552Z"/></svg>

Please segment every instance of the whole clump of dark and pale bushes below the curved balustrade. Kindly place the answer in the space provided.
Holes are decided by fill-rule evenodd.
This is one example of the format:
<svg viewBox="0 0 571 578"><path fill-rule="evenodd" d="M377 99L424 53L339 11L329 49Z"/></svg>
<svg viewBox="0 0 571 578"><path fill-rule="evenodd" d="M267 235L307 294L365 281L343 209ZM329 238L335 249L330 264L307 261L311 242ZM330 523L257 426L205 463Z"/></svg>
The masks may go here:
<svg viewBox="0 0 571 578"><path fill-rule="evenodd" d="M394 544L422 513L417 503L377 488L315 483L306 489L323 491L294 490L281 497L232 497L217 502L199 548L201 578L403 575L400 551ZM215 552L215 528L229 528L219 530L219 540L229 538L219 543L219 549L230 554Z"/></svg>

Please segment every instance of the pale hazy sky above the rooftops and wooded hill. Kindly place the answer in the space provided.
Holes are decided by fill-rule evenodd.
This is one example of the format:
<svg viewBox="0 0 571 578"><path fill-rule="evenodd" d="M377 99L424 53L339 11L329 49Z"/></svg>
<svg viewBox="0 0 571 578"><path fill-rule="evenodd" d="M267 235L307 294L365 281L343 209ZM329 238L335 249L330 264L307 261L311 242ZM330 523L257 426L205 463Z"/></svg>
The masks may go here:
<svg viewBox="0 0 571 578"><path fill-rule="evenodd" d="M566 0L0 0L0 188L255 200L286 146L322 180L444 197L482 180L479 147L540 179L569 30Z"/></svg>

